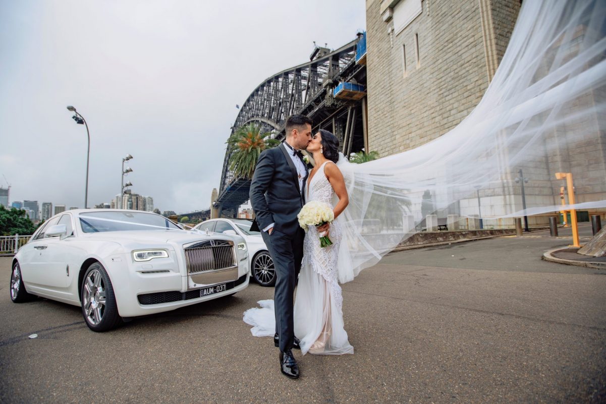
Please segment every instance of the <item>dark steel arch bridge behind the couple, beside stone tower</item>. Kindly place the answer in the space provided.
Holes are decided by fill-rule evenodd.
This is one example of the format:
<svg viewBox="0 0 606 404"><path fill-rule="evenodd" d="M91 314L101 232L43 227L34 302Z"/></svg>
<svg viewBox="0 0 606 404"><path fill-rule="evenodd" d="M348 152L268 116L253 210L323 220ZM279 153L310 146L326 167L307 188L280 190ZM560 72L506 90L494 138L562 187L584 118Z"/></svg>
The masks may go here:
<svg viewBox="0 0 606 404"><path fill-rule="evenodd" d="M364 34L358 34L354 41L334 51L316 47L309 62L265 79L240 108L230 136L242 125L254 122L262 132L282 139L288 116L305 114L313 120L313 130L325 128L339 138L345 155L365 146L368 150L365 92L351 96L341 91L335 96L339 83L353 82L359 88L366 84L365 39ZM248 200L250 180L234 176L229 169L230 157L227 150L214 205L219 208L219 216L235 217L239 205Z"/></svg>

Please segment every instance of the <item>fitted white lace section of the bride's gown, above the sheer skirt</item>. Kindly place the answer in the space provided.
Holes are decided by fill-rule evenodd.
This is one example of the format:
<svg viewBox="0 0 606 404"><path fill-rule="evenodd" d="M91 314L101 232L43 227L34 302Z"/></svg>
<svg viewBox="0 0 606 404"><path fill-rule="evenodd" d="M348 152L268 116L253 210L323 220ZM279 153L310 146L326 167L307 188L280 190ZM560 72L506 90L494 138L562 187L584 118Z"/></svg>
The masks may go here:
<svg viewBox="0 0 606 404"><path fill-rule="evenodd" d="M319 200L325 202L334 208L332 200L335 195L333 186L330 185L326 174L324 173L324 166L326 164L333 164L332 162L324 162L318 171L308 180L308 184L305 184L305 202L311 200ZM322 275L326 282L330 283L330 288L333 290L333 296L335 297L336 304L341 310L343 297L341 294L341 286L338 283L338 268L337 258L339 254L339 246L341 245L341 239L343 233L341 226L337 222L333 222L330 225L330 237L332 245L328 247L320 247L320 236L316 228L310 226L305 233L305 240L303 242L303 265L310 265L311 269L316 273Z"/></svg>

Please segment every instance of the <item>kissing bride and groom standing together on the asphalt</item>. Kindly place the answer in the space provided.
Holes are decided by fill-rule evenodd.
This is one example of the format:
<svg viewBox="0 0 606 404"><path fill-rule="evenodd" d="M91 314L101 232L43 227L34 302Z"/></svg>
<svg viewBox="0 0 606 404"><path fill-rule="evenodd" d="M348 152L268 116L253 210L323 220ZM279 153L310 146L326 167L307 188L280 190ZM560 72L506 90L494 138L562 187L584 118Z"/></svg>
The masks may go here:
<svg viewBox="0 0 606 404"><path fill-rule="evenodd" d="M349 203L336 164L339 141L326 130L312 134L311 124L305 115L290 116L285 141L261 153L250 185L250 202L273 259L276 286L274 300L262 300L261 308L245 311L244 321L253 325L255 336L273 334L280 349L280 370L293 379L299 377L293 349L301 349L302 354L353 354L338 283L341 224L334 220L304 231L298 221L307 202L328 204L335 219ZM301 150L313 156L315 167L310 171ZM325 234L332 244L321 247L320 237Z"/></svg>

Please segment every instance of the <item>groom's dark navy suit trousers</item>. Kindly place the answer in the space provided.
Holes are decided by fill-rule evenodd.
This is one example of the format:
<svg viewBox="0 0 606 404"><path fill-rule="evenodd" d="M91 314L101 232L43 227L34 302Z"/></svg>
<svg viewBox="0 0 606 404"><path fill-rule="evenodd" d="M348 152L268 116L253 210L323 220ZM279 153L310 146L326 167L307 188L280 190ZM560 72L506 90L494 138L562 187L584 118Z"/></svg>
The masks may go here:
<svg viewBox="0 0 606 404"><path fill-rule="evenodd" d="M295 234L284 234L274 228L271 234L262 231L261 235L276 270L274 291L276 333L280 339L280 351L284 352L285 349L292 348L295 342L293 299L296 279L301 271L305 231L298 228Z"/></svg>

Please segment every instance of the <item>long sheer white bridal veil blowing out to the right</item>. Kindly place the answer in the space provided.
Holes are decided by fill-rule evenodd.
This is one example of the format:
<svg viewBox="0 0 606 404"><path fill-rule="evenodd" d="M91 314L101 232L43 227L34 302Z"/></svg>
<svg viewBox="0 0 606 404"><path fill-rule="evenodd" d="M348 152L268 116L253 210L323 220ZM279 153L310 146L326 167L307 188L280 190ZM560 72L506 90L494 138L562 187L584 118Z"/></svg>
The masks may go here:
<svg viewBox="0 0 606 404"><path fill-rule="evenodd" d="M493 80L461 124L376 161L341 158L350 205L338 218L347 239L339 280L374 265L427 214L463 226L480 216L498 228L559 211L557 172L573 173L573 208L606 207L605 31L602 0L525 1Z"/></svg>

